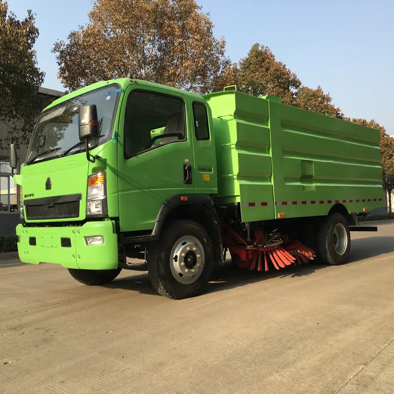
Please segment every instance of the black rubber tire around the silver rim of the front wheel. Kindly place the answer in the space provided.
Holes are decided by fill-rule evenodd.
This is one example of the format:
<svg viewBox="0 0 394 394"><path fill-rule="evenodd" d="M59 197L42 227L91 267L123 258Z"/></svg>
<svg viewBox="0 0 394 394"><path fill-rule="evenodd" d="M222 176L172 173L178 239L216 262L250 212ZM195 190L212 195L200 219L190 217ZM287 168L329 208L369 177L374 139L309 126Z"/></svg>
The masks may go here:
<svg viewBox="0 0 394 394"><path fill-rule="evenodd" d="M170 255L176 242L183 236L193 236L201 243L205 262L198 279L190 284L179 283L170 267ZM183 299L201 294L208 283L213 268L213 247L206 230L197 222L178 220L162 230L160 239L152 242L148 251L149 279L162 296Z"/></svg>

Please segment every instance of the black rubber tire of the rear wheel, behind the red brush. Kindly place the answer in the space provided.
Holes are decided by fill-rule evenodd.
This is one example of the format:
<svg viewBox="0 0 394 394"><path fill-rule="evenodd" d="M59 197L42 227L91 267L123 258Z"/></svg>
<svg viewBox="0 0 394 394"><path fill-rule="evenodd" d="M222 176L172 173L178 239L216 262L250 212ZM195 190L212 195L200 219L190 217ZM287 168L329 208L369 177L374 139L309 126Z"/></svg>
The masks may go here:
<svg viewBox="0 0 394 394"><path fill-rule="evenodd" d="M346 239L346 248L344 246L344 252L338 254L335 251L334 240L334 229L336 225L342 225L344 228L343 239ZM339 226L339 229L342 228ZM341 265L347 262L350 252L350 231L346 219L339 213L333 213L327 218L323 219L320 223L317 237L318 249L322 260L330 265Z"/></svg>

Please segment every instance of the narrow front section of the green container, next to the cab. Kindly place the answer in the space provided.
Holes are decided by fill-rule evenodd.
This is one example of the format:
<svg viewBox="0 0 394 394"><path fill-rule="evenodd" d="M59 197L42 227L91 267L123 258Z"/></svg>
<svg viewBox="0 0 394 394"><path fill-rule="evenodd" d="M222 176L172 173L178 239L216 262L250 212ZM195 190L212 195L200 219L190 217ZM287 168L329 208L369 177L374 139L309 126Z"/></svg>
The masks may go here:
<svg viewBox="0 0 394 394"><path fill-rule="evenodd" d="M214 117L217 202L239 203L243 222L273 219L268 101L237 92L205 99Z"/></svg>

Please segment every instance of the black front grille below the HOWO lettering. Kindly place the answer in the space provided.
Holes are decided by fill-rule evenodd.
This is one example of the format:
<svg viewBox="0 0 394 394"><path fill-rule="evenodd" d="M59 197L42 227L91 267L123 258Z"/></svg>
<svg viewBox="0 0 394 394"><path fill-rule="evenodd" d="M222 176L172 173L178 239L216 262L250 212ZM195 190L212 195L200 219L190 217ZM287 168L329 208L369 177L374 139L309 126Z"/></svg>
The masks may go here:
<svg viewBox="0 0 394 394"><path fill-rule="evenodd" d="M69 219L79 216L82 195L56 196L24 200L28 220Z"/></svg>

